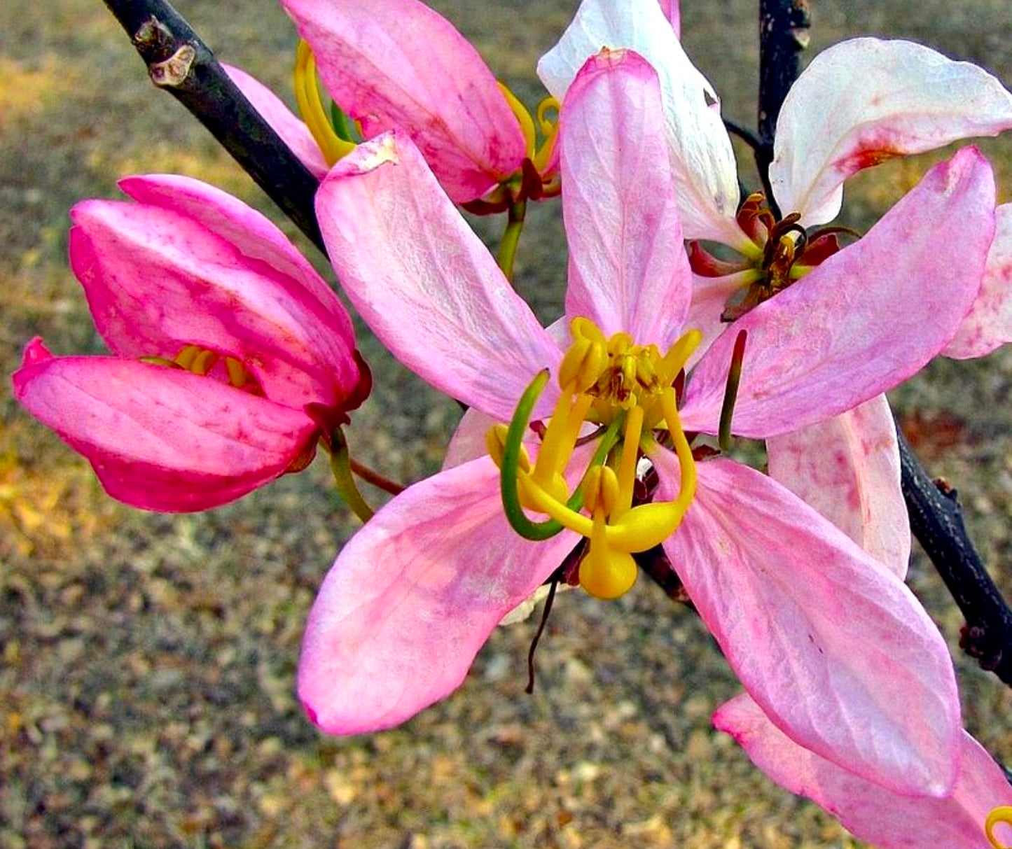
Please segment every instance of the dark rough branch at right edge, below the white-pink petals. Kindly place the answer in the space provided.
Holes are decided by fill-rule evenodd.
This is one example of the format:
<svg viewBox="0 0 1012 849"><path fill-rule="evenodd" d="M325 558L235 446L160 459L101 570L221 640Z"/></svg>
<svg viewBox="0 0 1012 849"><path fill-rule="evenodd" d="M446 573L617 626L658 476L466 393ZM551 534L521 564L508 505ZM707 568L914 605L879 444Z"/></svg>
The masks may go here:
<svg viewBox="0 0 1012 849"><path fill-rule="evenodd" d="M966 618L959 647L1012 686L1012 610L966 535L956 491L932 481L897 433L910 527Z"/></svg>

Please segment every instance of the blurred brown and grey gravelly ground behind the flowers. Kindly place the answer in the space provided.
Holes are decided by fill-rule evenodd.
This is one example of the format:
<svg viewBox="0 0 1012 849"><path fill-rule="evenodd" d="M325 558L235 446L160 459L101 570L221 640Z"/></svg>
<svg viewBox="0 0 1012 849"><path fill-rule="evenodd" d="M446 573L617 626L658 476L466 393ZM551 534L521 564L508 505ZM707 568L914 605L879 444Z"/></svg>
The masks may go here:
<svg viewBox="0 0 1012 849"><path fill-rule="evenodd" d="M529 104L537 57L575 3L438 0ZM751 125L755 3L686 2L685 41L726 113ZM1012 82L1007 0L820 0L813 52L906 34ZM290 92L292 29L272 0L180 0L218 55ZM1012 140L986 146L1002 199ZM931 160L855 180L866 227ZM117 177L175 171L279 219L197 123L154 90L98 0L0 4L0 371L43 334L101 350L67 269L67 211ZM754 184L754 183L753 183ZM558 315L558 207L535 209L518 285ZM284 222L282 227L291 233ZM302 243L301 244L305 244ZM312 255L312 249L309 249ZM317 257L319 259L319 257ZM434 471L458 410L363 336L377 387L351 433L394 478ZM1012 356L940 362L895 394L933 474L1008 570ZM648 580L612 604L558 602L524 695L533 622L502 629L461 690L404 728L329 740L292 696L302 623L354 529L325 464L197 516L107 499L89 466L0 380L0 845L63 847L693 847L860 844L775 788L709 714L737 691L699 622ZM961 619L918 551L912 586L953 643ZM966 725L1012 760L1012 696L957 659ZM897 694L902 697L902 693Z"/></svg>

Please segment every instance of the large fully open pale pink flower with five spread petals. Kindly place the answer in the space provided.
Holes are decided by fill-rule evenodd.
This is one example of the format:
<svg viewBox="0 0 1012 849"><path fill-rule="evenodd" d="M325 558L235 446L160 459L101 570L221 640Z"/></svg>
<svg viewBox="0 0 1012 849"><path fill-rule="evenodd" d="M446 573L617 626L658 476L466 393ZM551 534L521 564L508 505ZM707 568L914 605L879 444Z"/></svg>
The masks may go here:
<svg viewBox="0 0 1012 849"><path fill-rule="evenodd" d="M502 475L488 456L461 461L410 487L349 541L310 615L300 696L332 733L397 725L459 685L489 632L581 537L590 540L584 585L599 589L611 571L603 594L612 578L624 580L631 554L663 542L778 729L898 792L943 794L956 777L958 705L947 650L923 609L774 481L725 458L696 462L688 448L686 431L715 432L735 334L699 359L675 409L673 372L696 336L685 332L691 272L660 96L650 66L625 52L594 58L567 94L565 348L403 134L362 145L324 181L318 217L349 296L403 362L474 408L462 441L475 419L510 421L543 369L555 379L534 408L546 421L531 445L536 460L501 460ZM963 151L813 270L821 285L788 289L742 318L736 430L766 438L823 420L936 353L977 295L993 196L987 162ZM568 461L584 419L596 441ZM616 483L588 474L590 515L577 513L564 502L605 427L617 439ZM631 505L641 446L660 485L652 503ZM559 521L560 533L531 541L512 530L500 486L514 480L521 503Z"/></svg>

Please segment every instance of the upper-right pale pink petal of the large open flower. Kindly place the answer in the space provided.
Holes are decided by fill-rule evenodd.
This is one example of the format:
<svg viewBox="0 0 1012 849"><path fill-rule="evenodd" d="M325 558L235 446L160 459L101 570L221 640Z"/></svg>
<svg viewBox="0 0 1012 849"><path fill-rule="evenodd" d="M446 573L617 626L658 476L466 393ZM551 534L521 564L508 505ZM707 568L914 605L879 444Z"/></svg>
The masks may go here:
<svg viewBox="0 0 1012 849"><path fill-rule="evenodd" d="M686 390L686 428L715 432L741 330L749 335L733 428L743 436L823 421L924 366L977 298L994 190L976 148L932 168L862 239L713 342Z"/></svg>

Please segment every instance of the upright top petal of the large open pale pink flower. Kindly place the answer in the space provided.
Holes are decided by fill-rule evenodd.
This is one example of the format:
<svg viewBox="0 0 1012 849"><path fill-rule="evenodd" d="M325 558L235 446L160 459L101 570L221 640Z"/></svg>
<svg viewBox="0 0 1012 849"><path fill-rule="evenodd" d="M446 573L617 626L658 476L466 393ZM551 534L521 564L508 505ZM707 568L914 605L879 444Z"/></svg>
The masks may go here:
<svg viewBox="0 0 1012 849"><path fill-rule="evenodd" d="M692 272L650 65L628 51L589 59L566 93L560 145L567 315L665 347L682 329Z"/></svg>

